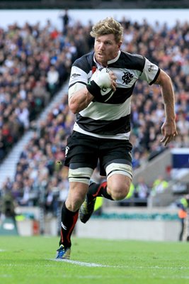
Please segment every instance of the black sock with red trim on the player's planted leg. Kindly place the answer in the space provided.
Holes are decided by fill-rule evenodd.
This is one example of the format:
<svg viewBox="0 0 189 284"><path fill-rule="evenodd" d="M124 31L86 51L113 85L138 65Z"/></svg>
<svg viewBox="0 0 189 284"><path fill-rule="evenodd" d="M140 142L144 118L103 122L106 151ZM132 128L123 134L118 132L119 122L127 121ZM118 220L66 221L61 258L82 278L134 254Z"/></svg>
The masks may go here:
<svg viewBox="0 0 189 284"><path fill-rule="evenodd" d="M61 237L59 245L63 244L65 248L71 246L71 233L76 225L78 214L79 210L76 212L69 211L64 202L62 206Z"/></svg>

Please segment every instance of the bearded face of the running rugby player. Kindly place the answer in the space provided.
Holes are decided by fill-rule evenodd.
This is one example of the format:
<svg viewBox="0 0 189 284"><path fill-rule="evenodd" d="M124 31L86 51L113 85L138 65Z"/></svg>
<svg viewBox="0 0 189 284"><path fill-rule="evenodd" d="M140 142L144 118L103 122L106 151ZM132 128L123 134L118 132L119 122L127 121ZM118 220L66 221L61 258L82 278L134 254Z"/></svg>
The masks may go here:
<svg viewBox="0 0 189 284"><path fill-rule="evenodd" d="M107 62L113 60L118 55L120 45L121 43L115 42L115 37L112 33L97 37L94 43L96 61L106 67Z"/></svg>

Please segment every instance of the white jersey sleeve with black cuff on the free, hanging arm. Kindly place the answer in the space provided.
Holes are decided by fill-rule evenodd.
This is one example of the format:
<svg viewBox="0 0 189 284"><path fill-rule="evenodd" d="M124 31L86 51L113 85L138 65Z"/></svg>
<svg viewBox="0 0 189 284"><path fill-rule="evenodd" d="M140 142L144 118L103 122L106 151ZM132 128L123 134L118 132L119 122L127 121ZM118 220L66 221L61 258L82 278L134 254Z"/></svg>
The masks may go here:
<svg viewBox="0 0 189 284"><path fill-rule="evenodd" d="M153 84L159 76L159 72L159 67L145 58L144 69L139 78L147 81L148 84Z"/></svg>

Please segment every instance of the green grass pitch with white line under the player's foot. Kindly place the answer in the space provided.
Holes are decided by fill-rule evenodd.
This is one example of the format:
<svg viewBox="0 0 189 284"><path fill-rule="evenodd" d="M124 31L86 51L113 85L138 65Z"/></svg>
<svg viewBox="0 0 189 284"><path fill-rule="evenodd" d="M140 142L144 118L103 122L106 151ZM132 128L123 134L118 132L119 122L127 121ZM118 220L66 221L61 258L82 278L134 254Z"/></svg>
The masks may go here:
<svg viewBox="0 0 189 284"><path fill-rule="evenodd" d="M72 238L55 261L57 237L0 236L1 284L188 284L189 244Z"/></svg>

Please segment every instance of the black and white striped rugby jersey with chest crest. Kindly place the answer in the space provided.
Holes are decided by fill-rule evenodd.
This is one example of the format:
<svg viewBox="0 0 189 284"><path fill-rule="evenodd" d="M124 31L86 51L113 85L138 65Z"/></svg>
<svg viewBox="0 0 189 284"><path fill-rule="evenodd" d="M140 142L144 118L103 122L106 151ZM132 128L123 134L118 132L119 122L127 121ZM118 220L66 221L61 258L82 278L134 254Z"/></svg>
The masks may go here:
<svg viewBox="0 0 189 284"><path fill-rule="evenodd" d="M88 84L96 68L101 68L88 53L77 59L71 67L69 97ZM142 55L119 51L118 56L108 61L107 66L117 77L117 88L108 102L93 99L86 109L76 114L74 131L99 138L129 139L130 102L138 79L153 84L159 75L159 67Z"/></svg>

